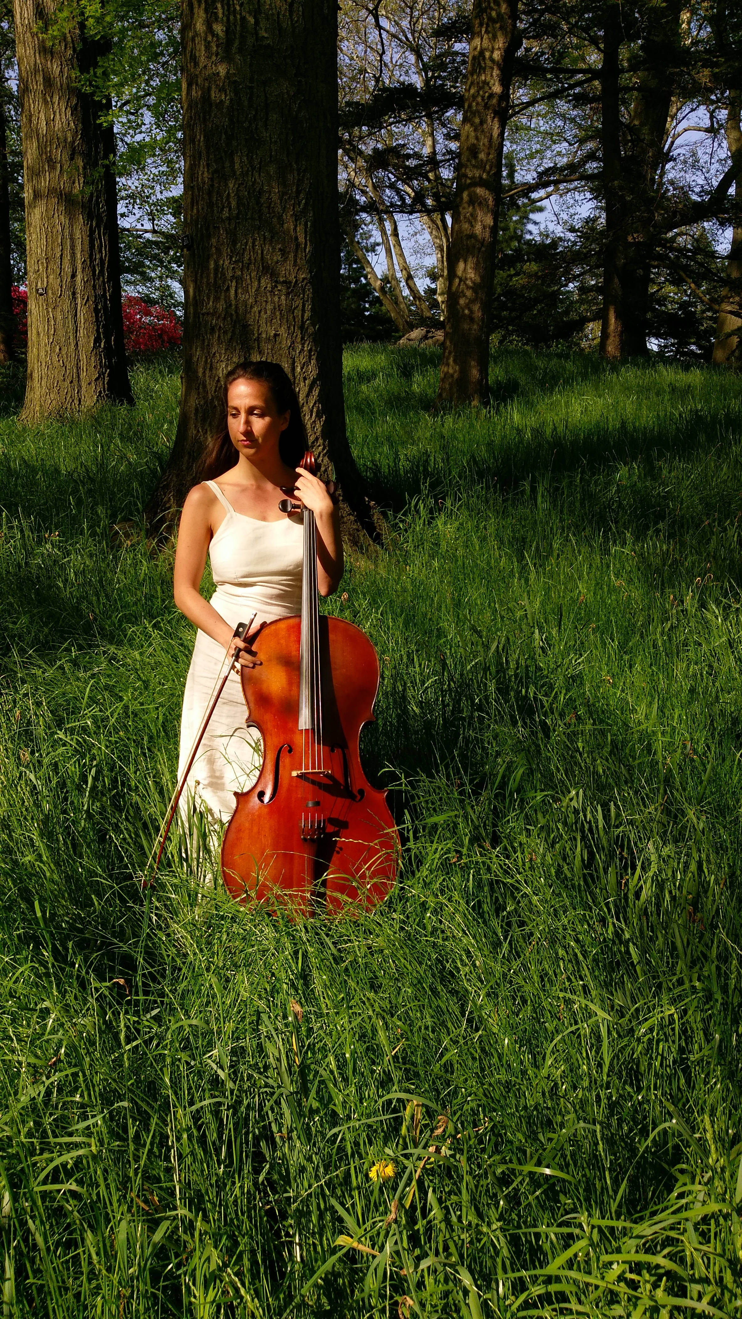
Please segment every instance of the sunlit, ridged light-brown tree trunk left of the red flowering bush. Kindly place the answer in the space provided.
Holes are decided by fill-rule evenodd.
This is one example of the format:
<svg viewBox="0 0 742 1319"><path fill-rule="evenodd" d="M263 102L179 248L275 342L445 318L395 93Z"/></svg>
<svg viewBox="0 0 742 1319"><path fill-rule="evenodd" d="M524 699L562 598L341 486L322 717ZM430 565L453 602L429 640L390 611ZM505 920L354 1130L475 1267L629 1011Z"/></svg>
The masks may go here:
<svg viewBox="0 0 742 1319"><path fill-rule="evenodd" d="M55 0L14 0L28 266L28 379L21 417L130 402L111 103L79 86L105 49L72 20L49 41Z"/></svg>

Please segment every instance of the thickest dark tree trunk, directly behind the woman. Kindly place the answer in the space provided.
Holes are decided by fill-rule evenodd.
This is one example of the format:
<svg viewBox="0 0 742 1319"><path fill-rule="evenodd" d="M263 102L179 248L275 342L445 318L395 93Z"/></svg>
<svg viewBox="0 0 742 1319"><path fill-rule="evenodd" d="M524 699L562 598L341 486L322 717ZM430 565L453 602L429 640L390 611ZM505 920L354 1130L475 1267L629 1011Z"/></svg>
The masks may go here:
<svg viewBox="0 0 742 1319"><path fill-rule="evenodd" d="M183 0L181 415L148 518L170 525L223 421L221 379L291 376L345 534L374 532L343 402L336 0Z"/></svg>

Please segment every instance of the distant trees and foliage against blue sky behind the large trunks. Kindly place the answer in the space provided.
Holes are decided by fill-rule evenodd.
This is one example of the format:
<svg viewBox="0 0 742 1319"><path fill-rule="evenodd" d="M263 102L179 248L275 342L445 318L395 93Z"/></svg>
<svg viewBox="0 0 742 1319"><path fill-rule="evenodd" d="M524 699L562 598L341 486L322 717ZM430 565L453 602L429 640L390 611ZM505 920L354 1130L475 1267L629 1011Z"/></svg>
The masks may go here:
<svg viewBox="0 0 742 1319"><path fill-rule="evenodd" d="M0 13L0 248L9 252L4 282L24 286L8 0ZM178 311L188 243L181 7L62 0L46 13L51 41L82 25L95 44L95 59L75 77L113 131L123 291ZM523 0L515 21L489 306L496 342L710 359L720 317L739 309L735 7ZM471 29L472 9L459 0L340 4L345 339L391 338L444 318ZM237 131L249 135L249 124ZM618 348L605 323L617 278L627 290ZM3 297L7 313L5 289ZM738 347L725 326L717 359Z"/></svg>

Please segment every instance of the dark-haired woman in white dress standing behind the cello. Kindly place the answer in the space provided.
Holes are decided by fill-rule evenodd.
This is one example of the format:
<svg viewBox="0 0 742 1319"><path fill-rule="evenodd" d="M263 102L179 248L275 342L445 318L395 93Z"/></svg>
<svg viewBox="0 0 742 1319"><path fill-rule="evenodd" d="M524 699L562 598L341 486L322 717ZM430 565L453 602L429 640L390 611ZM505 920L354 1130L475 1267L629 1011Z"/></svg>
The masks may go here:
<svg viewBox="0 0 742 1319"><path fill-rule="evenodd" d="M271 623L302 608L302 518L278 510L282 487L316 518L318 584L331 595L343 576L337 510L324 484L297 468L307 447L294 386L274 361L246 361L224 380L225 419L206 460L204 477L183 505L175 553L175 604L199 629L186 682L181 721L183 773L237 623ZM216 584L200 595L207 553ZM249 656L239 656L240 665ZM245 727L248 711L239 673L231 673L188 774L182 810L206 810L227 823L235 793L257 780L260 735Z"/></svg>

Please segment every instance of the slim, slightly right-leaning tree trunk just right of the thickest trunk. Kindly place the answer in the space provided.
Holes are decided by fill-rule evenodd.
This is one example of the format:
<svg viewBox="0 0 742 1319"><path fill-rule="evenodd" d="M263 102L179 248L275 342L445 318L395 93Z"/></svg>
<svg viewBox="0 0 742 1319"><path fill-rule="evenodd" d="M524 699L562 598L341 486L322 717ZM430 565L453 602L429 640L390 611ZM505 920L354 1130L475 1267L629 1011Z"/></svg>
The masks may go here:
<svg viewBox="0 0 742 1319"><path fill-rule="evenodd" d="M439 404L489 400L489 318L518 0L474 0L451 223Z"/></svg>

